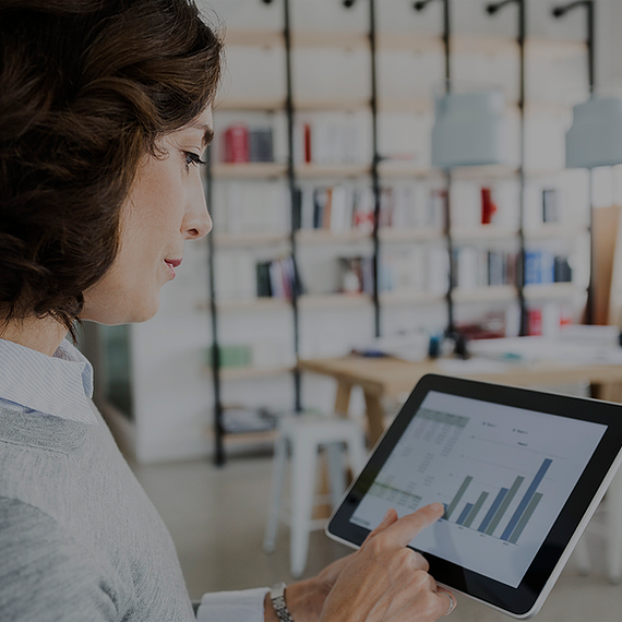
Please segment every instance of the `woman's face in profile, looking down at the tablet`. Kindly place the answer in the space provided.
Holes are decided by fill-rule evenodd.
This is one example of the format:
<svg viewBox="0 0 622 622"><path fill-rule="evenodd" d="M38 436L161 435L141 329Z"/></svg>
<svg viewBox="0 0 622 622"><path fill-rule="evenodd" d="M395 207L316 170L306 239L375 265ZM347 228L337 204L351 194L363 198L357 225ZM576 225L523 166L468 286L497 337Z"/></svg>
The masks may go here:
<svg viewBox="0 0 622 622"><path fill-rule="evenodd" d="M212 111L206 109L159 140L157 157L143 158L122 207L119 252L106 275L84 294L82 319L124 324L155 314L162 286L175 278L183 243L212 229L199 166L211 128Z"/></svg>

